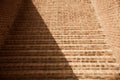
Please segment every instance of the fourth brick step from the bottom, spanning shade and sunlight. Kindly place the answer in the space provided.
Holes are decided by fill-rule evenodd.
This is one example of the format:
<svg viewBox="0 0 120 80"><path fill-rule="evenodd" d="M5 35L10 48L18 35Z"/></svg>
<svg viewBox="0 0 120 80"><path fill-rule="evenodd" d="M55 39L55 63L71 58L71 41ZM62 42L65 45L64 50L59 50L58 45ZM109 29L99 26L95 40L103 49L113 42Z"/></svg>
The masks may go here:
<svg viewBox="0 0 120 80"><path fill-rule="evenodd" d="M0 56L55 56L56 54L59 56L61 51L2 51L0 53ZM63 55L65 56L112 56L112 52L110 51L81 51L81 52L64 52Z"/></svg>

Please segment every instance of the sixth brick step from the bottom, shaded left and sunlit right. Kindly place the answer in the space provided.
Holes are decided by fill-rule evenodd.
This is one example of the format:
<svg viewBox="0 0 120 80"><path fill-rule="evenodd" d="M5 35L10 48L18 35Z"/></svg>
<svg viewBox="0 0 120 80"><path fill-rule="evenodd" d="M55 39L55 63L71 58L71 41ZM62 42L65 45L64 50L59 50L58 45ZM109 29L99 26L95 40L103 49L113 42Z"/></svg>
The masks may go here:
<svg viewBox="0 0 120 80"><path fill-rule="evenodd" d="M54 44L56 43L55 40L47 39L47 40L7 40L6 44L14 44L14 45L21 45L21 44ZM57 40L57 44L105 44L104 39L60 39Z"/></svg>

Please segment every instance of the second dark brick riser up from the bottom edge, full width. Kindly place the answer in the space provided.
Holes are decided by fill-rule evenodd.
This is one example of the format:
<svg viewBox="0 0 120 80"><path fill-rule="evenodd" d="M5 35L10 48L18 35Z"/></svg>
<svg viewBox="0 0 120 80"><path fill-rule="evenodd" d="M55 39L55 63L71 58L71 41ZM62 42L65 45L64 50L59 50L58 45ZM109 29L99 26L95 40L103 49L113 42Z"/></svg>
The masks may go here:
<svg viewBox="0 0 120 80"><path fill-rule="evenodd" d="M9 67L9 68L8 68ZM62 69L65 69L65 70L70 70L70 67L68 66L15 66L14 65L14 68L13 66L0 66L0 68L2 68L3 70L5 71L20 71L20 70L62 70ZM79 70L100 70L99 67L72 67L73 69L79 69ZM117 68L115 67L104 67L102 70L116 70Z"/></svg>

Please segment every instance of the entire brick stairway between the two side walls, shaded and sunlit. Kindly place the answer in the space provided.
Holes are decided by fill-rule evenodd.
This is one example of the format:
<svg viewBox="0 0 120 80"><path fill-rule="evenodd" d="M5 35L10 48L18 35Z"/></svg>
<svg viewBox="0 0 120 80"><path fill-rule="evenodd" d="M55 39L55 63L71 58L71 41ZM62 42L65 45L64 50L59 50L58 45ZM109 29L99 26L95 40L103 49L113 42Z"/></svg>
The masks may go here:
<svg viewBox="0 0 120 80"><path fill-rule="evenodd" d="M119 76L89 0L24 0L0 53L1 80Z"/></svg>

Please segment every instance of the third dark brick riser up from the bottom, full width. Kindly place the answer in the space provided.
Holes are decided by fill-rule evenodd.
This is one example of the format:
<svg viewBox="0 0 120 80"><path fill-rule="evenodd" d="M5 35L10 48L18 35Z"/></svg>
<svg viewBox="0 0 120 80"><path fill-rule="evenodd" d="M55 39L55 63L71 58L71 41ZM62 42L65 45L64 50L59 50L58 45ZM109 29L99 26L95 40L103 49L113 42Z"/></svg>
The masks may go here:
<svg viewBox="0 0 120 80"><path fill-rule="evenodd" d="M84 60L88 59L88 60ZM93 59L93 60L91 60ZM67 63L69 62L80 62L80 63L115 63L115 59L112 58L105 58L105 60L101 60L99 58L67 58ZM108 60L109 59L109 60ZM66 59L65 58L17 58L17 59L0 59L0 63L65 63ZM66 64L67 64L66 63ZM53 64L54 65L54 64ZM79 65L79 64L77 64Z"/></svg>

